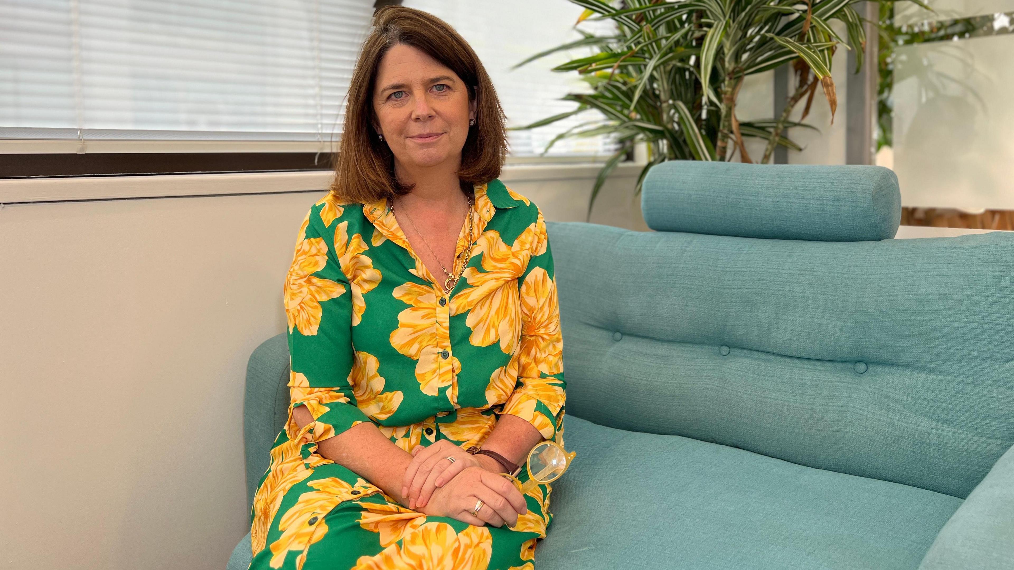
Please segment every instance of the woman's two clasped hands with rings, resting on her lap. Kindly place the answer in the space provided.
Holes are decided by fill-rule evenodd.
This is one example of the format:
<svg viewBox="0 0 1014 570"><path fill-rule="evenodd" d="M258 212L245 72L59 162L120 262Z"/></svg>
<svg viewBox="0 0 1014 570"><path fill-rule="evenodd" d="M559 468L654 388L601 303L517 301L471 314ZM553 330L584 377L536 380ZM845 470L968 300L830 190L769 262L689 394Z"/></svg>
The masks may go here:
<svg viewBox="0 0 1014 570"><path fill-rule="evenodd" d="M518 514L528 512L524 496L513 483L446 439L425 447L417 445L412 455L402 487L402 496L411 509L450 516L476 526L487 522L515 526ZM455 460L447 459L448 455ZM472 511L479 499L484 504L476 516Z"/></svg>

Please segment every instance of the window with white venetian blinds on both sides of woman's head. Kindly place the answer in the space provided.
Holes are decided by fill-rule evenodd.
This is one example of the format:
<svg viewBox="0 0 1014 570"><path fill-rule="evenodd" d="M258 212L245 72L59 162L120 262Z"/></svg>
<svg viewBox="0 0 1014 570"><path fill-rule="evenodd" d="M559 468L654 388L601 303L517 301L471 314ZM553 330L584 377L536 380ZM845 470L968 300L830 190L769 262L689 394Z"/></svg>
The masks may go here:
<svg viewBox="0 0 1014 570"><path fill-rule="evenodd" d="M0 176L330 168L359 47L374 7L389 3L0 0ZM549 71L568 54L509 71L579 38L574 4L403 3L472 43L511 126L590 92L575 73ZM511 131L510 159L537 161L593 115ZM608 137L564 139L548 155L588 160L614 148Z"/></svg>

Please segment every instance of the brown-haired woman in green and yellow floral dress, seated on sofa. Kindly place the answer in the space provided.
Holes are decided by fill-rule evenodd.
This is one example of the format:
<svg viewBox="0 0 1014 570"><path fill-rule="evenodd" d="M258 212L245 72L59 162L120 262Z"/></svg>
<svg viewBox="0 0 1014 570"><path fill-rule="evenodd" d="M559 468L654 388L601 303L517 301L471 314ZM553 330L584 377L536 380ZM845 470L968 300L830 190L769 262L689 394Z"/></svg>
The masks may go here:
<svg viewBox="0 0 1014 570"><path fill-rule="evenodd" d="M500 474L563 443L566 383L541 212L496 177L503 119L450 26L377 11L287 276L251 568L533 568L551 488Z"/></svg>

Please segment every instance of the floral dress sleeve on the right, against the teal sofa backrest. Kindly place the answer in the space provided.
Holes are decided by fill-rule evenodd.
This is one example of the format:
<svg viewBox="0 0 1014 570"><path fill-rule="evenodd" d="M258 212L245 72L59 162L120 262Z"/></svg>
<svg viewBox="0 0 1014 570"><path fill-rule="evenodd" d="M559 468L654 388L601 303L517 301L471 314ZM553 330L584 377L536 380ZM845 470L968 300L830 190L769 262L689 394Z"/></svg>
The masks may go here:
<svg viewBox="0 0 1014 570"><path fill-rule="evenodd" d="M563 423L567 382L553 253L541 211L537 211L534 229L532 257L518 284L521 301L521 337L516 355L518 379L502 413L526 420L546 439L556 439Z"/></svg>

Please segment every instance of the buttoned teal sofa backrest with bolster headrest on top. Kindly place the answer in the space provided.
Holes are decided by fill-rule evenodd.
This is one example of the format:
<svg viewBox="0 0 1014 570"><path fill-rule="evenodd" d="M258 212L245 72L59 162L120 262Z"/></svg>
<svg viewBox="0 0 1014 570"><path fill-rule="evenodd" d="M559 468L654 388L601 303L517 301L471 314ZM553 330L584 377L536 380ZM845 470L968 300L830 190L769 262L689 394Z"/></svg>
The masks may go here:
<svg viewBox="0 0 1014 570"><path fill-rule="evenodd" d="M549 222L567 413L967 496L1014 443L1014 233L875 240L894 234L897 201L842 208L862 201L836 197L848 186L836 180L868 176L877 189L852 192L874 196L897 193L892 176L808 167L824 186L807 187L798 167L744 166L648 173L646 220L697 233ZM676 188L702 172L741 185L752 207L702 224L708 201ZM789 202L823 204L829 221L786 221L779 201L755 200L784 206L793 185ZM836 209L859 228L839 224L838 238L865 240L773 238L825 239ZM871 216L888 222L864 225ZM718 225L768 237L709 234Z"/></svg>

